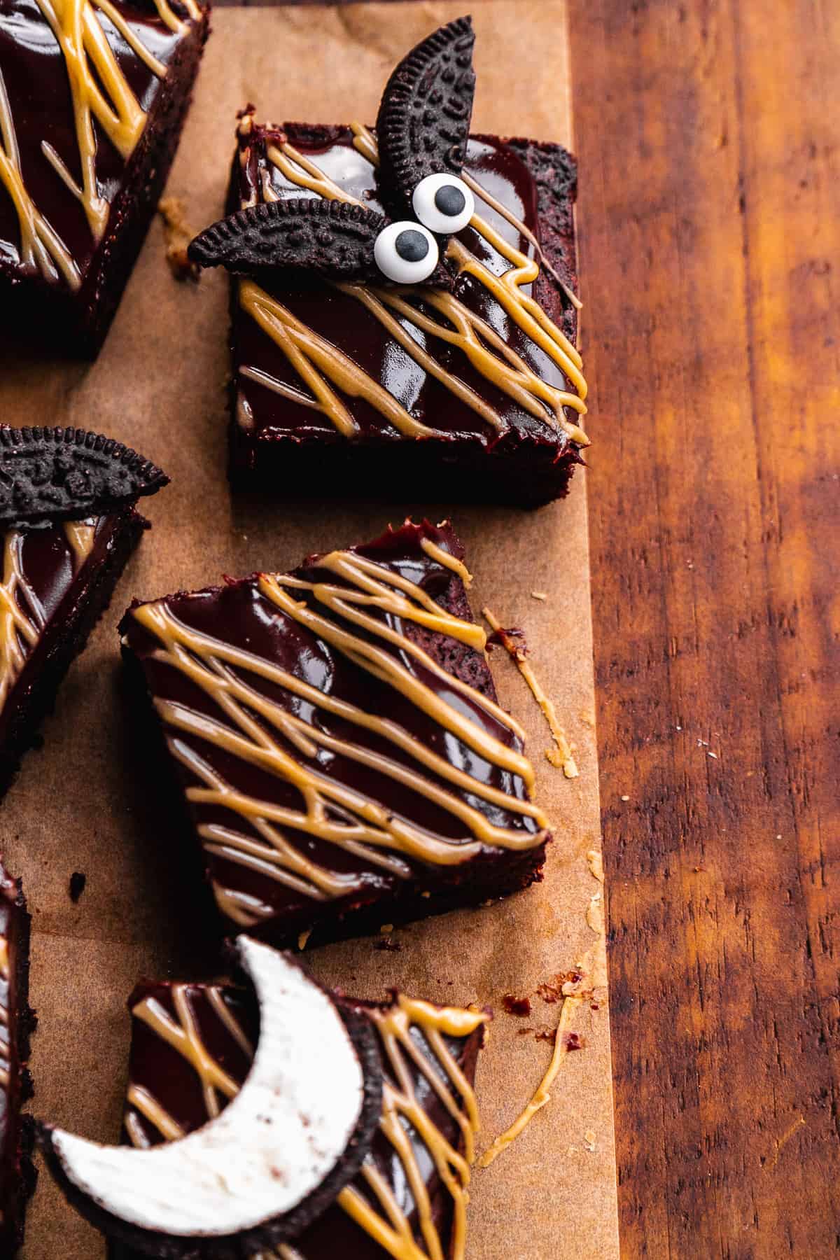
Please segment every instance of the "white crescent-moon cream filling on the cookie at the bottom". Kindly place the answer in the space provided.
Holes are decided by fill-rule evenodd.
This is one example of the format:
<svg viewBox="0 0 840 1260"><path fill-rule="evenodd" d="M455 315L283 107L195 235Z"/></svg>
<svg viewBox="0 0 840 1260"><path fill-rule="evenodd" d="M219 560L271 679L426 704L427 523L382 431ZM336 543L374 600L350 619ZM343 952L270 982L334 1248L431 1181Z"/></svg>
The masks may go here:
<svg viewBox="0 0 840 1260"><path fill-rule="evenodd" d="M359 1120L361 1065L330 998L270 946L247 936L237 946L257 992L259 1041L222 1115L147 1150L53 1130L71 1182L130 1225L217 1237L271 1221L324 1181Z"/></svg>

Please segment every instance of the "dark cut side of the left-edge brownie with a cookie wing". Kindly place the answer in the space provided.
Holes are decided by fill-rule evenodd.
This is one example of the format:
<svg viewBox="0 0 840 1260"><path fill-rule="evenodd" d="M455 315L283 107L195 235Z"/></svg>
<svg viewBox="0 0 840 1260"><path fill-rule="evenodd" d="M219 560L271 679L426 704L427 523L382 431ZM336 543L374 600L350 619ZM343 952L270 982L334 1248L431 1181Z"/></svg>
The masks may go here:
<svg viewBox="0 0 840 1260"><path fill-rule="evenodd" d="M26 658L0 712L0 795L14 779L20 759L55 704L71 664L83 651L94 625L149 522L133 509L106 518L84 568L64 593Z"/></svg>

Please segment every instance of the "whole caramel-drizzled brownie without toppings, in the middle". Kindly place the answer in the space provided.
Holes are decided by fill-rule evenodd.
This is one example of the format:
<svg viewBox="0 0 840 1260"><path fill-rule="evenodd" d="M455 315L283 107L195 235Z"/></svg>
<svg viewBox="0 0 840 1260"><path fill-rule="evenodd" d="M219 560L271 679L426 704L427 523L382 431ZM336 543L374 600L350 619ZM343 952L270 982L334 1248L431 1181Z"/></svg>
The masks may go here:
<svg viewBox="0 0 840 1260"><path fill-rule="evenodd" d="M338 939L540 878L548 823L462 557L450 524L407 523L123 617L227 932Z"/></svg>

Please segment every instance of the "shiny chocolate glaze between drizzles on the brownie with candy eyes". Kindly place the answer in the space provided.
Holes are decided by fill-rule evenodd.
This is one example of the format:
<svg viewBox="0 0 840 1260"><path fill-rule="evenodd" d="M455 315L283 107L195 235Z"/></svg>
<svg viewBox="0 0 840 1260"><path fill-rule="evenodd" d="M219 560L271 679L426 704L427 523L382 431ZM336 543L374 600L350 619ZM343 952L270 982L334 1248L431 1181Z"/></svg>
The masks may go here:
<svg viewBox="0 0 840 1260"><path fill-rule="evenodd" d="M377 171L353 147L350 129L310 127L300 123L283 123L282 129L254 126L249 136L239 137L242 160L234 161L233 168L230 195L233 208L252 204L254 199L257 202L264 200L266 180L281 198L316 195L290 183L268 160L267 146L276 144L282 137L287 137L300 152L315 161L341 189L372 209L383 212L377 186ZM466 170L540 239L536 184L526 163L516 155L513 147L499 137L474 136L467 149ZM529 258L534 256L533 244L491 207L477 200L477 209L506 241ZM501 275L509 268L510 265L506 260L472 228L465 228L458 234L458 239L496 275ZM573 261L568 258L567 263L569 268L567 276L573 282ZM445 441L447 437L450 441L465 438L492 447L499 441L510 442L525 437L548 445L558 454L569 446L565 432L558 432L547 421L525 412L508 394L486 381L457 348L431 336L426 339L423 334L418 334L423 339L421 344L426 345L426 349L437 358L442 367L468 384L495 408L502 422L510 426L511 432L506 436L500 438L491 425L466 403L457 399L443 384L428 375L375 316L353 297L316 280L297 280L288 273L278 276L276 281L266 284L263 287L304 324L363 367L414 418L442 431ZM536 285L523 286L523 292L529 294L531 289L539 290L535 296L547 314L564 328L567 335L574 339L574 310L564 302L560 290L552 281L547 281L544 275L540 276ZM237 426L237 417L244 408L253 427L247 432L237 427L234 441L242 444L243 447L259 446L283 436L292 436L298 441L315 438L319 442L346 442L348 438L336 432L327 416L290 401L266 386L242 375L243 368L252 368L298 391L304 388L305 392L309 392L282 350L253 319L238 309L236 290L237 281L234 280L232 297L233 423ZM557 364L525 336L484 286L470 276L460 276L453 292L466 306L491 324L543 379L559 388L569 388ZM427 309L427 314L438 318L431 309ZM369 403L341 394L340 391L336 392L360 426L360 435L358 438L353 438L353 442L375 438L377 442L388 444L400 440L399 432ZM283 486L281 490L286 494L293 493L288 486Z"/></svg>

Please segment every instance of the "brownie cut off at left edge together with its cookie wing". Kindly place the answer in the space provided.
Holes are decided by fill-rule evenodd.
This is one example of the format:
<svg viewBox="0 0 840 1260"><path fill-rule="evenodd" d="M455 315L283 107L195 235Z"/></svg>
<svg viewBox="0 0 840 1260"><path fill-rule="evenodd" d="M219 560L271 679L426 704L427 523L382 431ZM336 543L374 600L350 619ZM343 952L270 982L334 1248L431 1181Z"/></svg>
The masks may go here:
<svg viewBox="0 0 840 1260"><path fill-rule="evenodd" d="M111 438L0 427L0 795L107 609L166 476Z"/></svg>

